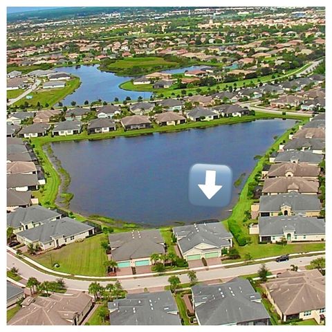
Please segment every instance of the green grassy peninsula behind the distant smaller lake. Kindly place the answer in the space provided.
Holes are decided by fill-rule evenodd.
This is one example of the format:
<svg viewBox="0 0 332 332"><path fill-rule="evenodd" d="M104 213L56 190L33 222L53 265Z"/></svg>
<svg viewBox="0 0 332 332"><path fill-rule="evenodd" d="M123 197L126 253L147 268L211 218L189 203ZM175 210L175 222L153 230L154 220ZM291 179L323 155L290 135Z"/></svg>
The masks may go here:
<svg viewBox="0 0 332 332"><path fill-rule="evenodd" d="M165 69L178 68L178 62L167 61L163 57L130 57L119 59L108 64L100 64L101 71L111 71L118 75L142 75Z"/></svg>

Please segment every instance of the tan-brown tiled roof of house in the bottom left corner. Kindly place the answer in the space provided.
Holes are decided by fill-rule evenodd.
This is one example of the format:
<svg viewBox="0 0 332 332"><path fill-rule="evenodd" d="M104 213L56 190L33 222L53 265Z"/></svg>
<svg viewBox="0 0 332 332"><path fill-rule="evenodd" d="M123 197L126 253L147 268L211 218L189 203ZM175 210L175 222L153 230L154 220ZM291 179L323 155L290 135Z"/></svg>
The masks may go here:
<svg viewBox="0 0 332 332"><path fill-rule="evenodd" d="M80 325L93 306L86 293L26 297L8 325Z"/></svg>

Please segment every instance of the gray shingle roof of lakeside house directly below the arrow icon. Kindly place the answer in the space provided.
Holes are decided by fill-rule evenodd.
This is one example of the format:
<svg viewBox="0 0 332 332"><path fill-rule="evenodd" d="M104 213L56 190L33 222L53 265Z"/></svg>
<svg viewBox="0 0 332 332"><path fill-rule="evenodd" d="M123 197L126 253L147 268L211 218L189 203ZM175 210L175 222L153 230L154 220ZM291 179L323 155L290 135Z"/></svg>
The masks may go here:
<svg viewBox="0 0 332 332"><path fill-rule="evenodd" d="M232 239L232 234L219 222L178 226L173 228L173 232L178 239L178 246L184 253L201 243L218 249L223 248L229 246L228 239Z"/></svg>

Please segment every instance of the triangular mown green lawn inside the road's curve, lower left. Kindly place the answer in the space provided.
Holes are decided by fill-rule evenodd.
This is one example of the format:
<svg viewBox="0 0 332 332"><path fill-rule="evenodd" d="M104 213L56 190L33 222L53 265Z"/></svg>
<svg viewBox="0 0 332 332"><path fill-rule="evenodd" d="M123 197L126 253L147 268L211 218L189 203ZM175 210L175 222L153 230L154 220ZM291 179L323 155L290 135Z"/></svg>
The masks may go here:
<svg viewBox="0 0 332 332"><path fill-rule="evenodd" d="M98 234L84 239L83 242L71 243L60 249L29 257L56 271L102 277L106 275L103 264L104 261L107 261L107 255L100 243L105 238L104 234ZM53 268L51 262L53 265L59 264L59 268Z"/></svg>

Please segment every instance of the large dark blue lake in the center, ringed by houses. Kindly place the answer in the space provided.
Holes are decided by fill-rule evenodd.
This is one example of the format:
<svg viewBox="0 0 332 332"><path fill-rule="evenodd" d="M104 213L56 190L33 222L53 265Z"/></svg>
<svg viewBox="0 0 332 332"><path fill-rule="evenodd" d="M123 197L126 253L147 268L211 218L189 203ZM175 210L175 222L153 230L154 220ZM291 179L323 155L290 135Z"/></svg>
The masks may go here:
<svg viewBox="0 0 332 332"><path fill-rule="evenodd" d="M233 188L227 208L191 205L188 176L195 163L228 165L233 183L257 163L295 120L257 120L176 133L107 140L55 142L55 155L71 174L71 210L123 221L167 225L224 218L242 185Z"/></svg>

